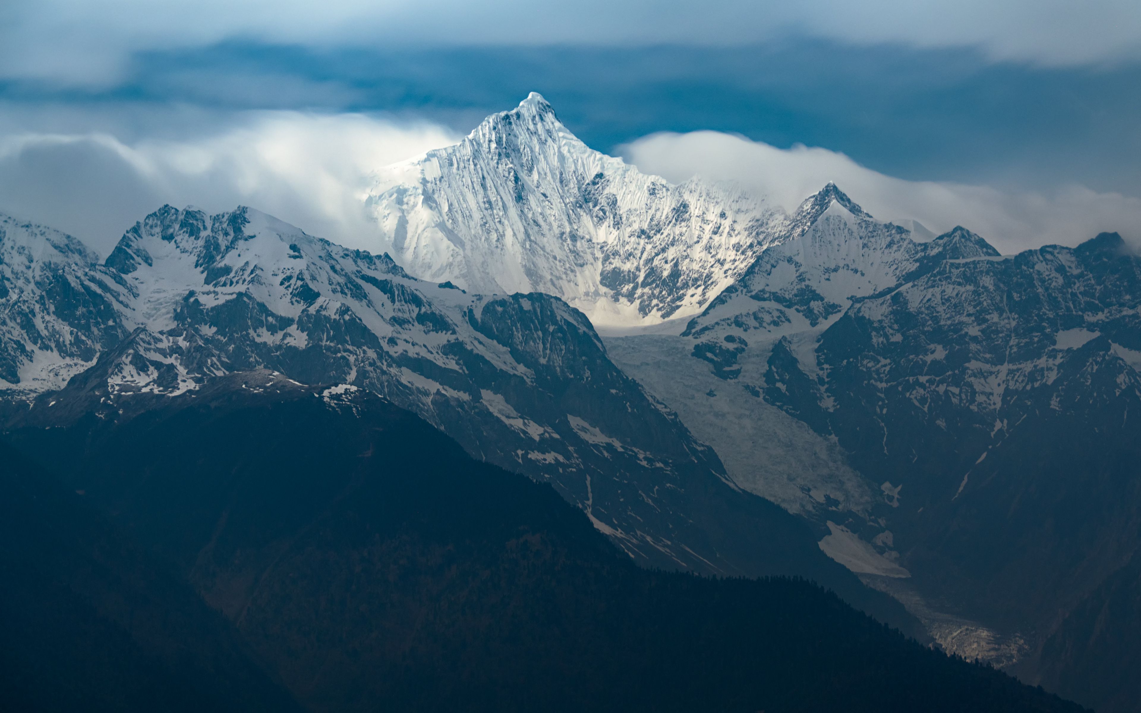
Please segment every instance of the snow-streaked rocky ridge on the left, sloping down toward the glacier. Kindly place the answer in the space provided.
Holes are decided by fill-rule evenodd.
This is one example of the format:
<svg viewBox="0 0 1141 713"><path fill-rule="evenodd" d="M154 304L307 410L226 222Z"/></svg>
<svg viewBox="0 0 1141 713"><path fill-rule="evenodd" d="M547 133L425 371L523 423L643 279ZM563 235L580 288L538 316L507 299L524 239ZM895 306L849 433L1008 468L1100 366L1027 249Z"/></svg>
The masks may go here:
<svg viewBox="0 0 1141 713"><path fill-rule="evenodd" d="M882 617L903 617L827 560L795 518L737 488L717 455L615 367L585 316L558 298L484 297L414 279L388 256L347 250L244 208L208 216L164 206L129 229L104 265L46 229L21 235L24 252L52 265L71 260L43 270L110 295L98 302L107 310L94 313L98 321L68 326L65 346L86 351L52 350L39 337L46 317L6 313L15 372L50 362L76 374L62 390L41 380L41 396L30 399L25 389L23 400L9 399L9 411L30 407L25 421L115 419L141 395L193 394L211 376L253 370L329 384L330 398L362 389L419 414L472 455L550 484L637 561L802 574ZM59 279L37 282L29 276L41 274L35 260L29 267L14 254L5 274L24 270L21 305L59 313L39 291Z"/></svg>

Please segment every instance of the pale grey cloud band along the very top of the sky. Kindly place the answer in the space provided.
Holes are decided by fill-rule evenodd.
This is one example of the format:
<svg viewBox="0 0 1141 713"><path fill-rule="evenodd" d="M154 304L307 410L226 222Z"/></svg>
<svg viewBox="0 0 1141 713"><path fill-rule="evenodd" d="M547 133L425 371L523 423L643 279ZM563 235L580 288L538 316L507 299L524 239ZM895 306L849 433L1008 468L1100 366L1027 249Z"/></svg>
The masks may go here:
<svg viewBox="0 0 1141 713"><path fill-rule="evenodd" d="M1136 0L7 0L0 76L106 83L132 52L225 40L314 48L736 44L788 33L855 43L978 47L1044 64L1141 56Z"/></svg>

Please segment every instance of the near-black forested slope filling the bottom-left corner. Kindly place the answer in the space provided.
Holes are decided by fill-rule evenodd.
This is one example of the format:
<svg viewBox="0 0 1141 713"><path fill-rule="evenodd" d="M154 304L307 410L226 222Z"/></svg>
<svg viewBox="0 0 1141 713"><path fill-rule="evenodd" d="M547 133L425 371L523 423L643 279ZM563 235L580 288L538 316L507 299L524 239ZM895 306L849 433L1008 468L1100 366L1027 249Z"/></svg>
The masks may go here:
<svg viewBox="0 0 1141 713"><path fill-rule="evenodd" d="M301 708L180 577L0 443L0 707Z"/></svg>

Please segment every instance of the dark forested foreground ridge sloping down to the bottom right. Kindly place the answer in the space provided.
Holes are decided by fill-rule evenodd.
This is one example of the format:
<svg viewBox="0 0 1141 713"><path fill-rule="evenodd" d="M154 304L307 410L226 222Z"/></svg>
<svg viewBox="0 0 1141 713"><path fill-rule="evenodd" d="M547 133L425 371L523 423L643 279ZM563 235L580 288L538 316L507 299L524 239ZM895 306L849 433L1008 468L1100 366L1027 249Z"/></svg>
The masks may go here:
<svg viewBox="0 0 1141 713"><path fill-rule="evenodd" d="M808 582L636 567L549 486L363 390L262 371L121 398L8 437L311 711L1079 710Z"/></svg>

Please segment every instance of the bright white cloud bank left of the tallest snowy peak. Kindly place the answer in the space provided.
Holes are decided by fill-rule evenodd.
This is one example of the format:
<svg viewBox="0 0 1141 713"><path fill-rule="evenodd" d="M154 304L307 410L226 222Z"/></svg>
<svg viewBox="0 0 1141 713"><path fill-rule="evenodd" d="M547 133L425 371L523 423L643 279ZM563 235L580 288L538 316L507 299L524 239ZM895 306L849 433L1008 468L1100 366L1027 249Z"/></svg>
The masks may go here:
<svg viewBox="0 0 1141 713"><path fill-rule="evenodd" d="M245 204L369 248L370 175L456 140L430 123L299 112L243 113L186 140L13 131L0 135L0 211L71 233L104 256L163 203Z"/></svg>

